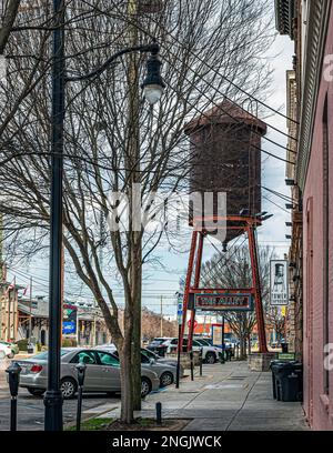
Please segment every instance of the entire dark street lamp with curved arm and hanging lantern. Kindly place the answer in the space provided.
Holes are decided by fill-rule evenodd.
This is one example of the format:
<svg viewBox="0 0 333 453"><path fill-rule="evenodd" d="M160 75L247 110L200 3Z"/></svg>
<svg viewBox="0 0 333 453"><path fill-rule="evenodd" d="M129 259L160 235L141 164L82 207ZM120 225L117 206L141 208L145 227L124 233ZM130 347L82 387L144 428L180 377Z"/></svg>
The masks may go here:
<svg viewBox="0 0 333 453"><path fill-rule="evenodd" d="M98 78L119 57L131 52L150 52L147 77L142 83L150 104L158 102L165 88L161 77L160 48L157 42L123 49L110 57L100 68L78 77L65 77L64 11L62 0L53 0L54 31L52 50L52 125L51 125L51 201L50 201L50 288L49 288L49 356L48 390L44 396L46 431L62 431L62 394L60 390L61 349L61 274L62 274L62 173L64 89L67 82Z"/></svg>

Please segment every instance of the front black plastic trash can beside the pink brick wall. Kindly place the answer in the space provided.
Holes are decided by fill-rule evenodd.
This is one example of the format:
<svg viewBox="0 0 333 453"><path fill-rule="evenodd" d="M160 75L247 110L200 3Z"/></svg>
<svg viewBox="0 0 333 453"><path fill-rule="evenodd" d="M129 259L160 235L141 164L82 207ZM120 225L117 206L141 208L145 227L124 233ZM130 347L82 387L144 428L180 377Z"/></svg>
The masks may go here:
<svg viewBox="0 0 333 453"><path fill-rule="evenodd" d="M300 362L280 363L275 371L278 401L302 401L303 366Z"/></svg>

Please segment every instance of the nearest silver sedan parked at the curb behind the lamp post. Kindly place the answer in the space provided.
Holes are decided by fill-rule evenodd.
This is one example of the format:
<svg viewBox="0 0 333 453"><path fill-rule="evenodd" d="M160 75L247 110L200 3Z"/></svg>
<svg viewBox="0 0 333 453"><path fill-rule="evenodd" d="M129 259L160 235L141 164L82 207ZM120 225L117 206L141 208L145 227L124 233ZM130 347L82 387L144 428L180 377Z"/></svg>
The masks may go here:
<svg viewBox="0 0 333 453"><path fill-rule="evenodd" d="M20 386L32 395L42 395L48 386L48 352L16 361L22 368ZM78 390L77 364L87 365L84 392L120 392L119 360L110 352L92 349L61 349L61 392L63 399L72 397ZM141 396L158 390L160 380L157 373L141 369Z"/></svg>

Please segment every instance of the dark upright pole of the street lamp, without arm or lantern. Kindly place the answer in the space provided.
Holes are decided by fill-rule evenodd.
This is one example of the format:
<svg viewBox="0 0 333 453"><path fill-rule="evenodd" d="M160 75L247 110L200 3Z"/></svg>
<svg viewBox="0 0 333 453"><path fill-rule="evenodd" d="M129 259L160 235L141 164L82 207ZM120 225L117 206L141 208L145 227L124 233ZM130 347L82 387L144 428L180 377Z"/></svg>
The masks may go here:
<svg viewBox="0 0 333 453"><path fill-rule="evenodd" d="M62 249L62 172L64 123L64 6L53 0L54 31L52 50L52 129L50 202L50 288L48 390L44 396L46 431L62 431L60 391L61 348L61 249Z"/></svg>

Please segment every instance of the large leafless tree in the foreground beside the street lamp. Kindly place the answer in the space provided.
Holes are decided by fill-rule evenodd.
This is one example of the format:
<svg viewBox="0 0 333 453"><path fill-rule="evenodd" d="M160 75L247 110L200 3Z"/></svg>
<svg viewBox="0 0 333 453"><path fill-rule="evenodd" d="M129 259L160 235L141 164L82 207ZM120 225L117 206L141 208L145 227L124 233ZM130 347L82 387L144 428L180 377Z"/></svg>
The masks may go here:
<svg viewBox="0 0 333 453"><path fill-rule="evenodd" d="M70 74L98 68L110 53L130 46L134 34L140 42L157 38L162 46L167 90L154 109L147 107L138 90L144 56L123 58L98 80L67 88L63 243L119 350L121 419L131 422L140 373L140 366L133 371L132 363L138 363L140 348L133 339L140 335L142 265L163 235L163 229L154 223L160 203L151 193L159 190L168 198L176 190L188 190L191 157L183 134L186 121L212 100L221 100L221 93L240 100L243 94L235 84L254 95L265 95L270 70L259 56L272 41L270 11L265 1L254 0L164 1L164 8L154 13L140 9L139 0L72 0L69 4ZM129 4L134 8L131 13ZM90 14L80 17L79 11ZM77 20L71 20L73 17ZM33 67L33 49L43 39L38 30L22 33L24 40L23 34L16 33L9 42L16 58L9 63L6 95L12 101ZM7 252L17 260L46 248L49 234L50 76L46 61L50 50L44 51L38 67L39 82L2 133L0 183L6 201L1 201L1 212ZM111 197L124 194L130 213L135 213L133 184L140 184L140 208L148 221L148 226L141 224L139 230L134 228L135 215L127 218L120 200ZM110 225L110 219L113 228L101 232L100 223L109 221ZM122 223L125 228L118 228ZM167 233L170 236L169 230ZM107 266L123 285L123 331Z"/></svg>

